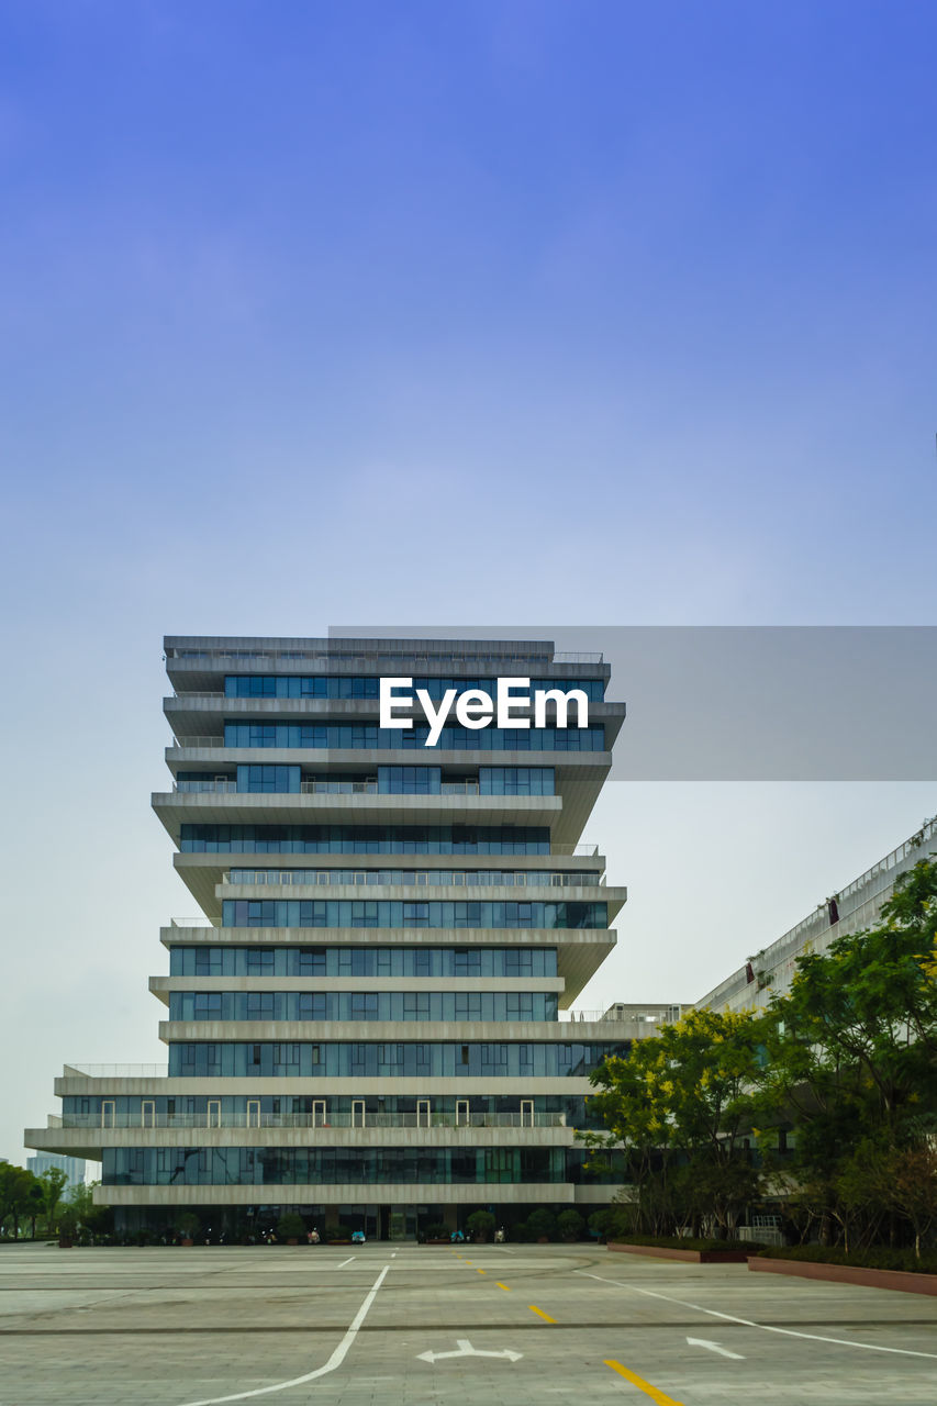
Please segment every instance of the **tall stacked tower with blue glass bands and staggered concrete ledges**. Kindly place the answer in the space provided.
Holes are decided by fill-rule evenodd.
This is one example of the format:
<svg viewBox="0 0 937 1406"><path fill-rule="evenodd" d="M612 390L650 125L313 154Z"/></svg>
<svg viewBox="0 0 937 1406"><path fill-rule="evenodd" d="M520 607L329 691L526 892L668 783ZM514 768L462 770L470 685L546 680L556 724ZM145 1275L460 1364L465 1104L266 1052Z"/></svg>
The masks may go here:
<svg viewBox="0 0 937 1406"><path fill-rule="evenodd" d="M643 1007L568 1022L626 898L580 837L625 706L601 655L543 641L165 641L172 789L198 918L151 977L167 1067L68 1066L27 1144L103 1164L118 1229L248 1234L298 1211L370 1236L477 1208L606 1204L588 1073ZM378 727L380 678L580 689L588 725ZM571 710L570 721L577 720ZM640 1018L639 1018L640 1017Z"/></svg>

